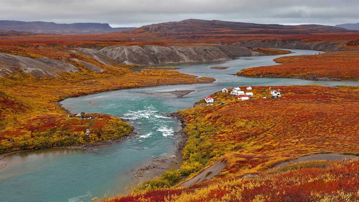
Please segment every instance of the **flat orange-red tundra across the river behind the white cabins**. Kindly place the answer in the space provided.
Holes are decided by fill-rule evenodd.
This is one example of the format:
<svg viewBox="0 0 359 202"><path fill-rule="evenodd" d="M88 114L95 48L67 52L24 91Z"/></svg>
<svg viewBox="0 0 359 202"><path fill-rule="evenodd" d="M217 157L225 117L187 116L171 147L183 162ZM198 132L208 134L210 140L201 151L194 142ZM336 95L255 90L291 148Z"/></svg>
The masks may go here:
<svg viewBox="0 0 359 202"><path fill-rule="evenodd" d="M238 75L359 81L359 51L286 56L274 61L282 64L247 68L238 72Z"/></svg>

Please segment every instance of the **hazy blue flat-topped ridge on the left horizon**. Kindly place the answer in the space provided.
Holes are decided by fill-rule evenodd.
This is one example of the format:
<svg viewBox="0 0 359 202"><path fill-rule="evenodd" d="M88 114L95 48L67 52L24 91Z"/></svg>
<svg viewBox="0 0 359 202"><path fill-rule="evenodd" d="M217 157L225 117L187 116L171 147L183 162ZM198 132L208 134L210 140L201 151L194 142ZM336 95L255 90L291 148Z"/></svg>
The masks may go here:
<svg viewBox="0 0 359 202"><path fill-rule="evenodd" d="M72 23L58 24L54 22L23 22L16 20L0 20L0 30L45 34L93 34L121 32L136 27L112 28L107 23Z"/></svg>

